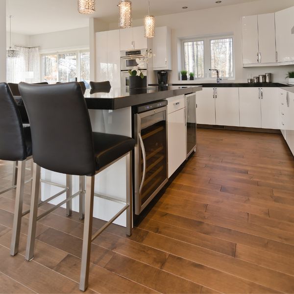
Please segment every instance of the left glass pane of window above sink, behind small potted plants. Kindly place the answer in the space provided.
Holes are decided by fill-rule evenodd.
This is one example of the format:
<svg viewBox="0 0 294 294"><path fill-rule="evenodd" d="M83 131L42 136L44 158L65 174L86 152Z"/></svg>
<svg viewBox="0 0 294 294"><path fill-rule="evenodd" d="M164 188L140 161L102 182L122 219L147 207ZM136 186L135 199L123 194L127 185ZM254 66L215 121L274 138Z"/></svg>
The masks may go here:
<svg viewBox="0 0 294 294"><path fill-rule="evenodd" d="M185 70L204 78L204 41L184 42Z"/></svg>

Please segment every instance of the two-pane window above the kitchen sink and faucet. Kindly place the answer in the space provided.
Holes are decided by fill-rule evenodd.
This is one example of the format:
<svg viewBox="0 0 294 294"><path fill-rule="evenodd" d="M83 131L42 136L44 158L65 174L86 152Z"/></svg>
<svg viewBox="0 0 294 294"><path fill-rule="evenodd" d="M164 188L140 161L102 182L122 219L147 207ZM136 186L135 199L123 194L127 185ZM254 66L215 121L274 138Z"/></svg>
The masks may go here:
<svg viewBox="0 0 294 294"><path fill-rule="evenodd" d="M194 73L195 78L216 78L217 69L222 78L234 77L233 38L202 38L182 41L182 68Z"/></svg>

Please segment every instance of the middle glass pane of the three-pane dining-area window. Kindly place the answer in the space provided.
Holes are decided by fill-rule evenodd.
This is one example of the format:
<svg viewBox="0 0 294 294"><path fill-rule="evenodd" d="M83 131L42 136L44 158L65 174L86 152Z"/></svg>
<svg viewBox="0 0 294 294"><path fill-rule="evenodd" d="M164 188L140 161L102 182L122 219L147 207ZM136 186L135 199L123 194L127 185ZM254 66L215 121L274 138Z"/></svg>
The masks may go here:
<svg viewBox="0 0 294 294"><path fill-rule="evenodd" d="M76 53L59 54L58 79L61 83L73 82L76 78Z"/></svg>

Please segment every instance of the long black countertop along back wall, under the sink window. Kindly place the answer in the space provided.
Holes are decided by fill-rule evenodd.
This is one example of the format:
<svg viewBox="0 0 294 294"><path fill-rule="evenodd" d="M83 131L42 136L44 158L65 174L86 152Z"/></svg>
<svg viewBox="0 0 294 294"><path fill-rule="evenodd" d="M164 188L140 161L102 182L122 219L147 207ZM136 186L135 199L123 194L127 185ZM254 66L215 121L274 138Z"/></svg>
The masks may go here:
<svg viewBox="0 0 294 294"><path fill-rule="evenodd" d="M276 87L276 88L281 88L281 87L291 87L293 85L289 85L287 83L228 83L228 82L220 82L220 83L203 83L203 84L192 84L192 83L187 83L187 84L172 84L173 86L183 86L183 85L189 85L189 86L202 86L203 88L220 88L220 87Z"/></svg>

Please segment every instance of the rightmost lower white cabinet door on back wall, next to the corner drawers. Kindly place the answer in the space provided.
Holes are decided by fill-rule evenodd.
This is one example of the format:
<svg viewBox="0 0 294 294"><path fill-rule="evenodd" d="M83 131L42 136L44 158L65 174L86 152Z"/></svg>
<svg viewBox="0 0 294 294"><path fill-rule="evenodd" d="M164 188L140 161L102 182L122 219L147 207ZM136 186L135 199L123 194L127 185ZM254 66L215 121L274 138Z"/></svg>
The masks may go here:
<svg viewBox="0 0 294 294"><path fill-rule="evenodd" d="M280 129L278 88L261 88L261 127Z"/></svg>

